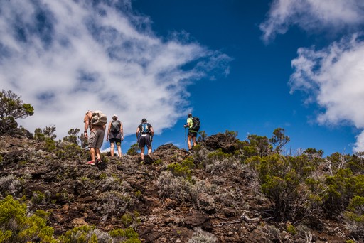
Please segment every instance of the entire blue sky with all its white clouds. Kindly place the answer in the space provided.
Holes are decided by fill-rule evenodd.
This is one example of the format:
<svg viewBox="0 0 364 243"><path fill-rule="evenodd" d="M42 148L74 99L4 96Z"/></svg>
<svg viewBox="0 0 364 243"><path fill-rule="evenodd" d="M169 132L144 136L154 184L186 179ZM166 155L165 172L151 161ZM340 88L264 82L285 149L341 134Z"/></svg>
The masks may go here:
<svg viewBox="0 0 364 243"><path fill-rule="evenodd" d="M186 114L208 135L272 136L287 151L364 150L360 0L0 1L0 85L35 107L29 131L117 114L135 143L186 148ZM68 118L63 118L68 114ZM107 149L105 141L103 148Z"/></svg>

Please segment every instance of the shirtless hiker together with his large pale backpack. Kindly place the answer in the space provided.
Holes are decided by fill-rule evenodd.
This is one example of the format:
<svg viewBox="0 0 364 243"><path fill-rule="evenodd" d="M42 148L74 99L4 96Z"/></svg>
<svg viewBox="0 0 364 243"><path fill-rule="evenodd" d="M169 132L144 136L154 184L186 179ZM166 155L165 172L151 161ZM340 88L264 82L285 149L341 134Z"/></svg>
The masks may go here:
<svg viewBox="0 0 364 243"><path fill-rule="evenodd" d="M83 119L85 123L85 138L87 139L87 146L90 148L91 160L87 162L88 165L95 166L96 163L102 163L100 157L100 148L105 136L105 125L107 124L107 117L101 111L87 111ZM87 136L87 129L90 128L90 136ZM96 159L95 159L96 158Z"/></svg>

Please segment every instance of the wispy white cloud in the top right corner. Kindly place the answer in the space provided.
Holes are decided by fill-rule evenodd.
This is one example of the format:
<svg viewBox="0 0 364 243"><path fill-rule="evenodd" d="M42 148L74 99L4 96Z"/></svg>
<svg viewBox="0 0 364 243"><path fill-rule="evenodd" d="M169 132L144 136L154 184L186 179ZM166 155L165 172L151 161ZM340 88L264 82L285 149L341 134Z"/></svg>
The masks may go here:
<svg viewBox="0 0 364 243"><path fill-rule="evenodd" d="M262 39L271 41L277 34L284 34L290 26L306 31L329 28L331 32L344 28L356 28L364 22L362 0L274 0L267 20L260 24Z"/></svg>

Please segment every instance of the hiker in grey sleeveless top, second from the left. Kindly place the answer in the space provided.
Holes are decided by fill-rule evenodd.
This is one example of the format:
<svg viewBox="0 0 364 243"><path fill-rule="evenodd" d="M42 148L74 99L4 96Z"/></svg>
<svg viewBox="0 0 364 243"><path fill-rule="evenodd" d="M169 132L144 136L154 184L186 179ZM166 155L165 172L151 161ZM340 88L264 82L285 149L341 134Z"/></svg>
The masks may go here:
<svg viewBox="0 0 364 243"><path fill-rule="evenodd" d="M110 153L114 156L114 146L117 144L117 153L119 158L122 157L122 140L124 140L122 122L117 119L117 115L112 116L112 121L109 122L109 129L107 129L106 141L110 141Z"/></svg>

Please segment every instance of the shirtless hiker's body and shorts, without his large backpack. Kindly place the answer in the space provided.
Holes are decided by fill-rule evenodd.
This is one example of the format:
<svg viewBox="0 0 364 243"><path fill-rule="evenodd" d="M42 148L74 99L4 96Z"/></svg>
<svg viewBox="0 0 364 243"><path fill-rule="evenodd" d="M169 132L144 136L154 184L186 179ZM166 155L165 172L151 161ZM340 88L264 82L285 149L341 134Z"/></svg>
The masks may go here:
<svg viewBox="0 0 364 243"><path fill-rule="evenodd" d="M95 166L96 163L102 163L100 157L100 148L105 136L105 125L92 125L92 111L87 111L83 122L85 123L85 138L87 139L87 146L90 148L91 160L87 162L88 165ZM87 129L90 128L90 136L87 136ZM95 160L96 157L96 160Z"/></svg>

